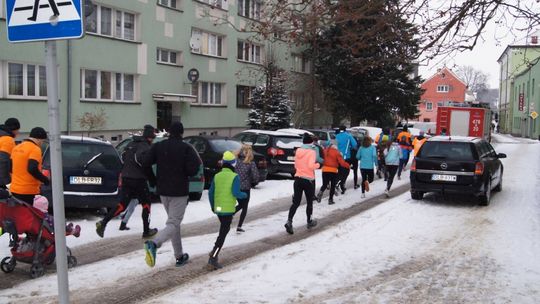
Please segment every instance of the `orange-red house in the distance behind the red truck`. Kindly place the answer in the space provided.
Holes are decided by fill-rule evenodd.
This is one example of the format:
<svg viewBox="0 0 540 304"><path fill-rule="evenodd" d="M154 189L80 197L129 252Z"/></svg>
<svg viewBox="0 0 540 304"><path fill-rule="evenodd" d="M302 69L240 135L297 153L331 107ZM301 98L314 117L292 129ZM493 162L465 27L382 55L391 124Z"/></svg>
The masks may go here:
<svg viewBox="0 0 540 304"><path fill-rule="evenodd" d="M467 85L450 69L444 67L422 83L418 121L436 122L437 107L459 106L465 102Z"/></svg>

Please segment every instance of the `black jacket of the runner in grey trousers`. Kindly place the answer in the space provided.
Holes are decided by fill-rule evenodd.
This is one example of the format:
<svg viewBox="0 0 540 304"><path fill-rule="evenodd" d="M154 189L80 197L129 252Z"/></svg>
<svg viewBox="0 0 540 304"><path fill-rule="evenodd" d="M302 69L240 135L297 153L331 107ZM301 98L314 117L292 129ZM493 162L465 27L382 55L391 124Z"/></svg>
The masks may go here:
<svg viewBox="0 0 540 304"><path fill-rule="evenodd" d="M153 180L149 171L156 164L156 177ZM152 145L143 162L150 184L157 186L156 192L163 196L187 196L189 176L199 170L201 160L195 149L182 141L181 137L171 137Z"/></svg>

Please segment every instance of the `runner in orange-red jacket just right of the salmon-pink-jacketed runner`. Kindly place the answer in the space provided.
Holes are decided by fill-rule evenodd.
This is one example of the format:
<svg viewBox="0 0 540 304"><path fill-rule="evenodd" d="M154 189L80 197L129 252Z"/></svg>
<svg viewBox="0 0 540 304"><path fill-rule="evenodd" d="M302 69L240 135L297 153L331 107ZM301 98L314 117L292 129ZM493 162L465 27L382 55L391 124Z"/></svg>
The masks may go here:
<svg viewBox="0 0 540 304"><path fill-rule="evenodd" d="M324 150L324 163L322 167L323 185L317 194L317 202L321 202L324 191L330 184L330 197L328 198L328 205L334 204L334 192L336 190L336 184L338 182L338 168L349 168L349 163L343 159L341 153L335 145L332 145L330 140L324 142L326 149Z"/></svg>

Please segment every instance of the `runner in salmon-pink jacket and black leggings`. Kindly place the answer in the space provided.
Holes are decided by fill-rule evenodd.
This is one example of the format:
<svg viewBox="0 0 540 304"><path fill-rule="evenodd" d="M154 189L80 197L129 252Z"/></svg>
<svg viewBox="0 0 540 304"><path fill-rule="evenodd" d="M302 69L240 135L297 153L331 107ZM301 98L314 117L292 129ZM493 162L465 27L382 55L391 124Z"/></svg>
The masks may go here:
<svg viewBox="0 0 540 304"><path fill-rule="evenodd" d="M315 169L319 169L320 165L317 163L315 151L311 148L313 138L308 133L304 133L302 143L303 145L296 150L294 157L294 168L296 169L293 186L294 194L287 223L285 223L285 230L289 234L294 233L292 222L296 209L298 209L302 201L302 193L306 195L307 201L307 228L311 229L317 226L317 220L312 219L311 215L313 213L313 199L315 196Z"/></svg>

